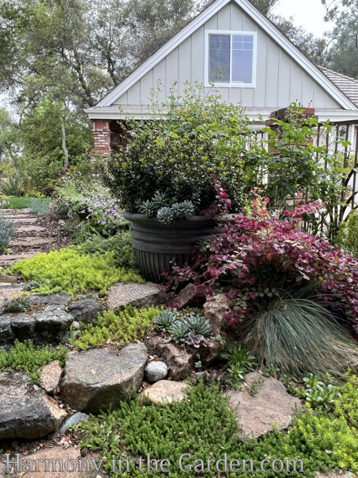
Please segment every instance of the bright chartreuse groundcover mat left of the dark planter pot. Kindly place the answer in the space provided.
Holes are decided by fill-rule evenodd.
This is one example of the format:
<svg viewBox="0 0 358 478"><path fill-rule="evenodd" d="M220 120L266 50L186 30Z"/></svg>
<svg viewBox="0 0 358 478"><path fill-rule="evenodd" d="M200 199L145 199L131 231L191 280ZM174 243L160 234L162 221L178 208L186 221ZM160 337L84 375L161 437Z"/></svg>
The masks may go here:
<svg viewBox="0 0 358 478"><path fill-rule="evenodd" d="M23 259L12 265L8 272L21 274L25 280L48 280L49 285L34 289L41 294L65 291L72 297L89 289L99 290L104 295L107 287L115 282L144 282L133 270L116 268L113 252L84 254L74 246Z"/></svg>

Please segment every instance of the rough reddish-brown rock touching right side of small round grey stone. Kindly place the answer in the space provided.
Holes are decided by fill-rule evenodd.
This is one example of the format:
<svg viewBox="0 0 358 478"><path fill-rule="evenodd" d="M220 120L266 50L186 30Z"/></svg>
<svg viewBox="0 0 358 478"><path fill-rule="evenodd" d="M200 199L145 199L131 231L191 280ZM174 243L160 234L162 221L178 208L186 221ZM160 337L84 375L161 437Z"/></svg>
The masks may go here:
<svg viewBox="0 0 358 478"><path fill-rule="evenodd" d="M169 376L174 380L182 380L190 373L193 355L184 348L159 342L153 353L168 365Z"/></svg>

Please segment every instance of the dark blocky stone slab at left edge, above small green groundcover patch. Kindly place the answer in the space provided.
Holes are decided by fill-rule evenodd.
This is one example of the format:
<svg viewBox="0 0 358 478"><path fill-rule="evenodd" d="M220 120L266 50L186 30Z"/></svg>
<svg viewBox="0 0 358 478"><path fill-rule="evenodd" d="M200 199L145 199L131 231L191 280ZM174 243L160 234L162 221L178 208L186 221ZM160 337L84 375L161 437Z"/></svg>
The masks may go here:
<svg viewBox="0 0 358 478"><path fill-rule="evenodd" d="M63 309L63 305L47 305L29 312L5 314L0 316L0 324L3 324L0 328L4 328L6 340L18 339L23 342L31 338L35 345L58 345L73 322L72 315ZM8 321L10 321L10 328ZM3 338L0 339L1 342L4 342ZM9 345L11 344L7 343L7 346Z"/></svg>

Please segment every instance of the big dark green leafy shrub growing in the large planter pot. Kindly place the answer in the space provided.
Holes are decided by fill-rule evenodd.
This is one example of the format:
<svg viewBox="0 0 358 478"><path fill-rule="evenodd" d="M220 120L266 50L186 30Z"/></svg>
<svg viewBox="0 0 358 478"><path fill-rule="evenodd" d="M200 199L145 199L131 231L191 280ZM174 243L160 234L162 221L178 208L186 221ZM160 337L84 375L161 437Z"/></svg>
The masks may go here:
<svg viewBox="0 0 358 478"><path fill-rule="evenodd" d="M242 206L250 190L242 159L246 142L253 142L251 155L265 153L255 149L243 111L215 94L204 96L195 84L182 98L172 91L165 105L153 98L153 115L151 121L129 121L128 147L108 162L107 181L122 207L165 222L198 214L215 203L211 175L227 188L233 208Z"/></svg>

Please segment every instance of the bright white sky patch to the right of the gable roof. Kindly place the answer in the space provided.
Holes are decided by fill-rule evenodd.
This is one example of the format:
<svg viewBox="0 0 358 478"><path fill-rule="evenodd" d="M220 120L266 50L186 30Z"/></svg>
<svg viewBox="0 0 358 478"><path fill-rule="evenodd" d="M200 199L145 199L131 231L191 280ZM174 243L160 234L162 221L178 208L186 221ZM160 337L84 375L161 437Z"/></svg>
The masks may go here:
<svg viewBox="0 0 358 478"><path fill-rule="evenodd" d="M283 17L292 16L296 26L301 25L320 38L329 30L329 24L323 21L325 8L321 0L279 0L273 13Z"/></svg>

